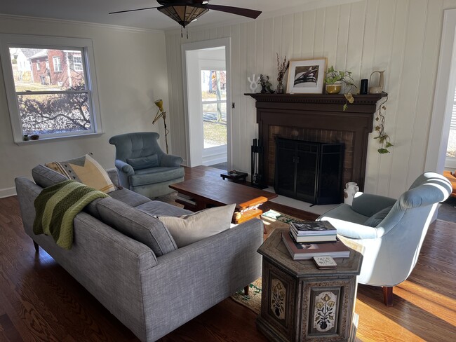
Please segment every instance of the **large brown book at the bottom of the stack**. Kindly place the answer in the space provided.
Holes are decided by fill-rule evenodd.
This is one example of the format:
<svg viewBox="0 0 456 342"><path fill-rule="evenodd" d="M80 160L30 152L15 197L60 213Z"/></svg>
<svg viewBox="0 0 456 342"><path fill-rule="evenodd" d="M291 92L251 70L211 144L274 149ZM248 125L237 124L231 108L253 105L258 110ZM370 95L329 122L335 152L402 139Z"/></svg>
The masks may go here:
<svg viewBox="0 0 456 342"><path fill-rule="evenodd" d="M340 240L327 243L297 243L293 241L290 233L282 233L282 241L293 260L307 260L322 256L337 259L350 256L349 247Z"/></svg>

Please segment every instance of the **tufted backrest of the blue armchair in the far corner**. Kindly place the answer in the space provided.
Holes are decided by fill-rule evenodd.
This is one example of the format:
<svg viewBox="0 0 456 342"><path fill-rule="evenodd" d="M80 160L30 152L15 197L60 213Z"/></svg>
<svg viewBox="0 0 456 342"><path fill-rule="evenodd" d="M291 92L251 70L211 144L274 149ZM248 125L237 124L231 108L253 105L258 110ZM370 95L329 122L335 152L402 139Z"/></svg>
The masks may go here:
<svg viewBox="0 0 456 342"><path fill-rule="evenodd" d="M159 163L163 154L158 143L160 135L156 132L135 132L114 135L109 144L116 146L116 159L126 163L127 158L140 158L157 154Z"/></svg>

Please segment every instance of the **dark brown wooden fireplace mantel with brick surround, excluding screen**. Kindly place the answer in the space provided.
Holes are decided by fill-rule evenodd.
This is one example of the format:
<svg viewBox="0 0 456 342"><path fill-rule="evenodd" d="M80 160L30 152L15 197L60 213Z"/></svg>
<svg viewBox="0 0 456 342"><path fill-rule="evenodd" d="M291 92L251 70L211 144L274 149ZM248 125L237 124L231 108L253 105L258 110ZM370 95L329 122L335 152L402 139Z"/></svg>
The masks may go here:
<svg viewBox="0 0 456 342"><path fill-rule="evenodd" d="M263 146L260 170L264 185L274 179L274 139L281 136L316 142L345 144L343 182L356 182L363 190L369 133L377 102L387 93L354 95L343 111L343 94L246 93L256 100L259 142Z"/></svg>

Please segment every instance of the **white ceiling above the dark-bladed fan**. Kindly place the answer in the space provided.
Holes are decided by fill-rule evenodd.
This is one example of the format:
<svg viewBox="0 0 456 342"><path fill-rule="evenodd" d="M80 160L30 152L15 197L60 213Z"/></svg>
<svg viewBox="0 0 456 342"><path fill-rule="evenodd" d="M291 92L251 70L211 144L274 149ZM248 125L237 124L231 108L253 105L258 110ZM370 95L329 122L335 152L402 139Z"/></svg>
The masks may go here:
<svg viewBox="0 0 456 342"><path fill-rule="evenodd" d="M328 6L356 0L210 0L210 4L250 8L266 18L279 13L293 13L311 6ZM109 12L160 6L156 0L1 0L0 14L94 22L142 29L179 29L180 25L156 9L109 15ZM239 15L209 11L189 27L252 20Z"/></svg>

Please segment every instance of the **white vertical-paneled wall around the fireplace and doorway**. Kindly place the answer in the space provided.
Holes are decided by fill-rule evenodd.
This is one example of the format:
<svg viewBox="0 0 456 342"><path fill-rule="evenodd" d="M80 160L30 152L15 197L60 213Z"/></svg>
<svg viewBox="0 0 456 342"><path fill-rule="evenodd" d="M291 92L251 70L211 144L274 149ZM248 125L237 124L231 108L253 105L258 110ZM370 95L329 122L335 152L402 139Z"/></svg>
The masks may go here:
<svg viewBox="0 0 456 342"><path fill-rule="evenodd" d="M250 172L250 145L257 137L255 102L243 95L250 93L247 77L262 73L274 81L276 53L291 59L328 57L328 66L353 71L356 81L386 70L385 130L394 147L380 155L371 135L365 191L399 196L424 171L445 8L456 8L456 0L365 0L232 26L189 25L188 40L167 32L175 153L186 151L180 45L231 37L236 170Z"/></svg>

